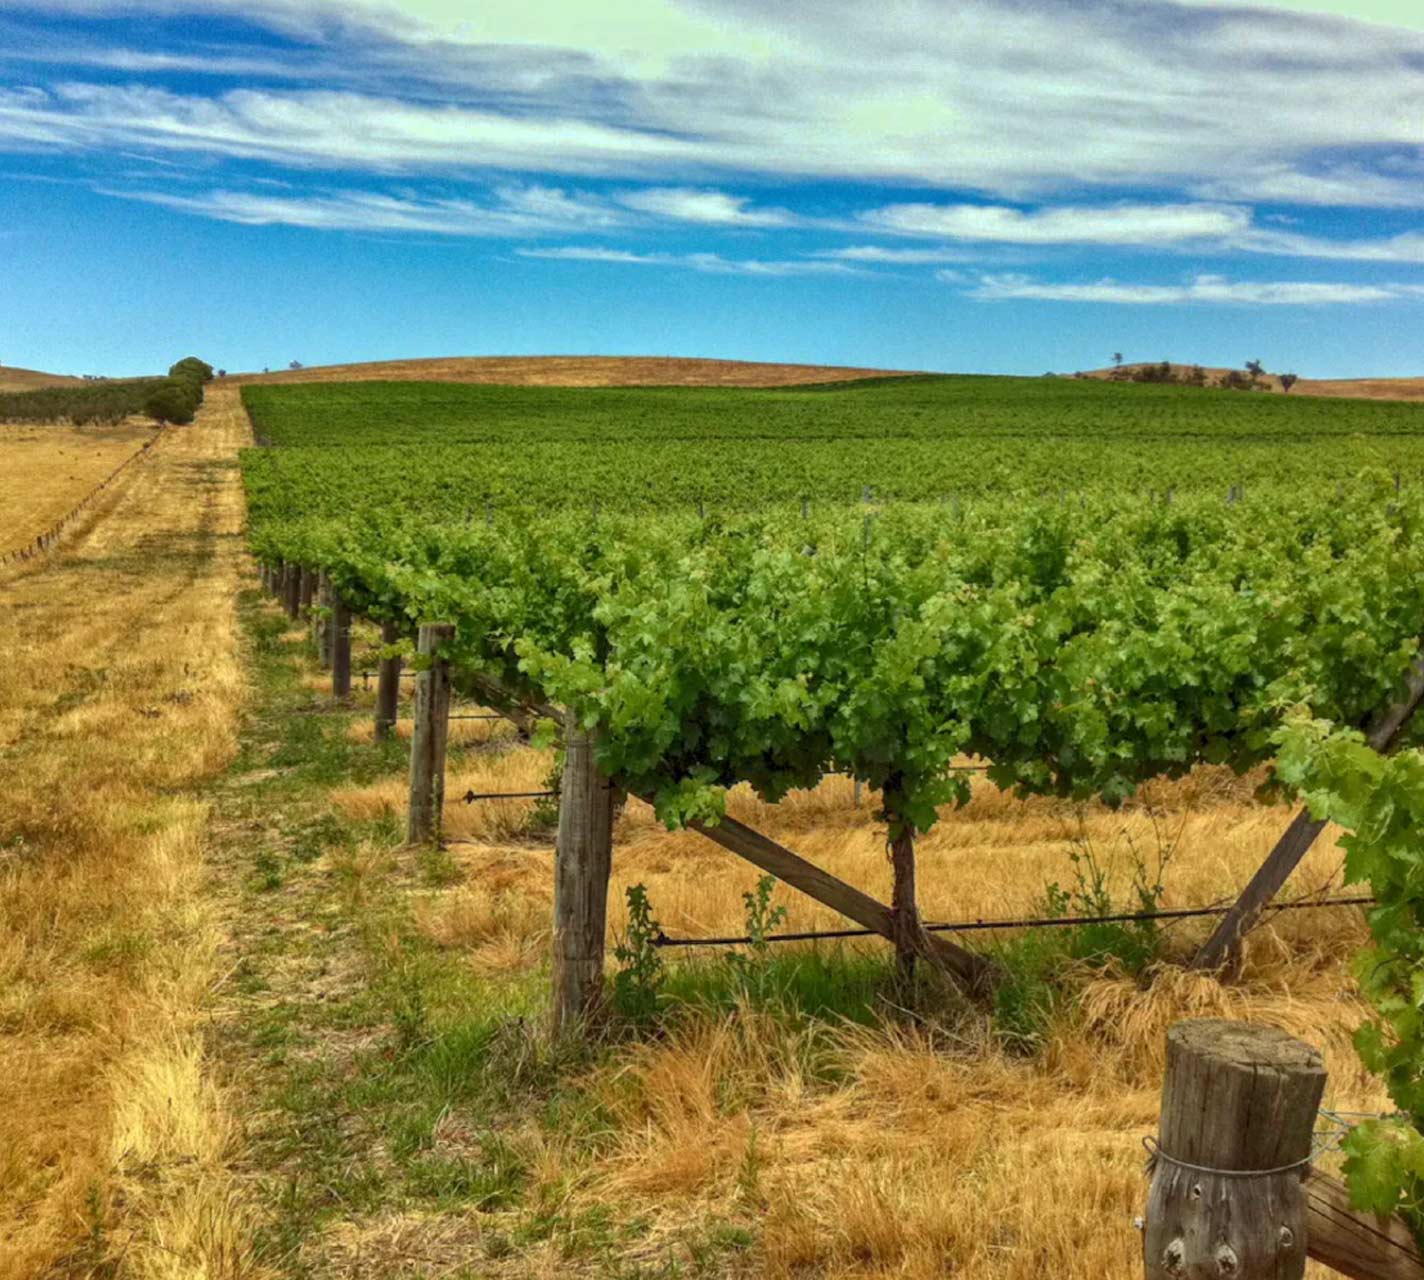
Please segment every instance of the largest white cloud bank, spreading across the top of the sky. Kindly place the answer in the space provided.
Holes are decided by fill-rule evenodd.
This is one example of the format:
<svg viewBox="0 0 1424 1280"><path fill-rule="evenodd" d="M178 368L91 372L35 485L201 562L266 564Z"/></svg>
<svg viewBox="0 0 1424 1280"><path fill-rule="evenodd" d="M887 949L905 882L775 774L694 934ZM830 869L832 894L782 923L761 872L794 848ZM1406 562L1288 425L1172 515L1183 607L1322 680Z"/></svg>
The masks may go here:
<svg viewBox="0 0 1424 1280"><path fill-rule="evenodd" d="M78 0L61 7L124 11ZM162 0L319 40L339 83L219 95L70 84L6 95L14 145L151 147L303 168L733 172L891 181L1022 201L1055 191L1347 195L1321 157L1424 145L1424 36L1165 0ZM377 74L379 73L379 74ZM329 67L313 73L328 75ZM1386 182L1384 189L1393 189ZM1368 202L1368 201L1366 201Z"/></svg>

